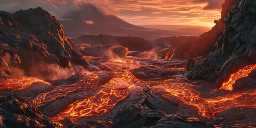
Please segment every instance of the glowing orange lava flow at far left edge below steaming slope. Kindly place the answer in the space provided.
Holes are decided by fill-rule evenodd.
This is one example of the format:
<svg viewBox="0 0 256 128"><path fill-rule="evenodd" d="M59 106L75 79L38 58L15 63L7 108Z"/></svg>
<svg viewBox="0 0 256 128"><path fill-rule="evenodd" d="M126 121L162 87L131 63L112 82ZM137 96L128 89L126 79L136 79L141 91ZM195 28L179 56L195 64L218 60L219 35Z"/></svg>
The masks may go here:
<svg viewBox="0 0 256 128"><path fill-rule="evenodd" d="M23 90L27 89L33 83L43 83L50 85L50 83L45 82L41 79L34 78L34 77L10 77L10 78L0 78L0 90Z"/></svg>

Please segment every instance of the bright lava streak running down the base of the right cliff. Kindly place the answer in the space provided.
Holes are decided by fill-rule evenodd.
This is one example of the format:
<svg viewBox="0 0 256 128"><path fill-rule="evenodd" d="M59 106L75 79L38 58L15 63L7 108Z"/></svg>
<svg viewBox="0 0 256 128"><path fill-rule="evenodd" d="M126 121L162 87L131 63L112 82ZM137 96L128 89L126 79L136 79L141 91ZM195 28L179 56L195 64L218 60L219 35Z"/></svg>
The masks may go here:
<svg viewBox="0 0 256 128"><path fill-rule="evenodd" d="M235 84L235 82L240 78L249 76L249 74L253 70L256 70L256 65L249 65L242 69L239 69L236 73L230 75L229 81L223 83L222 86L220 87L220 90L232 91L233 85Z"/></svg>

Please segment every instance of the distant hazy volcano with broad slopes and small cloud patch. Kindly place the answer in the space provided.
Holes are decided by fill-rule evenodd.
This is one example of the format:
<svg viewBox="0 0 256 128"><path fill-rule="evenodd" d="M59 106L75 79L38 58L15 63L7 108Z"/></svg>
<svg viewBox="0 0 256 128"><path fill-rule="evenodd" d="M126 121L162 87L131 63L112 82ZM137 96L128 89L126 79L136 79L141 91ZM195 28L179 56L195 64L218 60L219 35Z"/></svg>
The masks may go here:
<svg viewBox="0 0 256 128"><path fill-rule="evenodd" d="M83 4L80 8L79 10L67 12L62 17L66 20L60 21L69 37L76 38L84 34L109 34L144 38L186 35L175 31L135 26L115 15L107 15L101 12L90 3Z"/></svg>

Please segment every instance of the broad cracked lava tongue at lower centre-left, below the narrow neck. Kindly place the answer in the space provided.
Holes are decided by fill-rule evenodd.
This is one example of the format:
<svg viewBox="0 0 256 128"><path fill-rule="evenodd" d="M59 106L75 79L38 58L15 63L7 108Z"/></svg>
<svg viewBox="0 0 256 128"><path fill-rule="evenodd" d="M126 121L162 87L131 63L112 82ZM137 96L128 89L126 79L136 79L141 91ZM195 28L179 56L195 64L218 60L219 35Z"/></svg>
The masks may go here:
<svg viewBox="0 0 256 128"><path fill-rule="evenodd" d="M69 119L77 119L86 116L99 116L107 113L115 107L118 101L125 99L133 87L133 84L122 82L119 78L112 79L108 84L92 97L77 100L71 103L65 110L58 115L51 117L54 121L59 121L68 117ZM119 83L121 82L121 83Z"/></svg>

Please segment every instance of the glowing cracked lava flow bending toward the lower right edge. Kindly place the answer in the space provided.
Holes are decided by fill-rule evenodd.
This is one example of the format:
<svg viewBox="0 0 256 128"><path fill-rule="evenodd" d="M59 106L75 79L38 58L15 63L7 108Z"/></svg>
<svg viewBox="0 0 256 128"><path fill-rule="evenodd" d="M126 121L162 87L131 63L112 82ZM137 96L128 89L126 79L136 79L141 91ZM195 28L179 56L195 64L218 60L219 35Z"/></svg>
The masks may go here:
<svg viewBox="0 0 256 128"><path fill-rule="evenodd" d="M163 85L153 86L151 88L167 101L174 102L177 101L174 99L178 98L182 103L196 107L198 109L198 115L207 118L214 117L221 111L230 108L256 108L256 90L227 94L215 98L201 98L200 93L191 88L191 86L195 85L183 84L176 81L166 81Z"/></svg>

